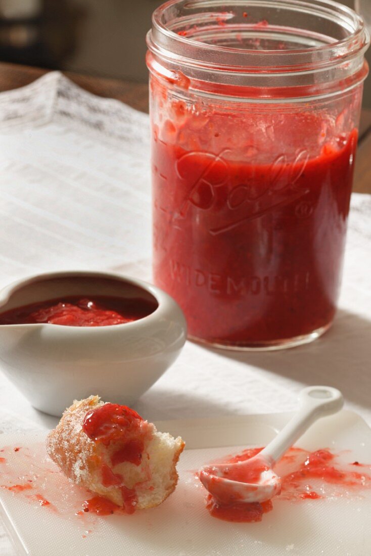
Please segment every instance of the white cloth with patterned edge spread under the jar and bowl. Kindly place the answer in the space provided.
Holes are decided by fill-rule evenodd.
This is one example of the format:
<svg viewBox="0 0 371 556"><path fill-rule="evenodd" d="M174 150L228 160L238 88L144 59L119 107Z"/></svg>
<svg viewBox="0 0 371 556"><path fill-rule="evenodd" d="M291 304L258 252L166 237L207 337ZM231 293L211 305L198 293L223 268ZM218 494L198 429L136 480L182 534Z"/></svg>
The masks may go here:
<svg viewBox="0 0 371 556"><path fill-rule="evenodd" d="M107 269L151 279L149 117L59 72L0 94L0 287L34 272ZM329 384L371 424L371 196L352 196L340 309L321 339L286 351L187 342L137 402L150 420L295 409ZM0 364L1 369L1 364ZM0 374L0 432L48 428ZM16 554L0 528L0 555Z"/></svg>

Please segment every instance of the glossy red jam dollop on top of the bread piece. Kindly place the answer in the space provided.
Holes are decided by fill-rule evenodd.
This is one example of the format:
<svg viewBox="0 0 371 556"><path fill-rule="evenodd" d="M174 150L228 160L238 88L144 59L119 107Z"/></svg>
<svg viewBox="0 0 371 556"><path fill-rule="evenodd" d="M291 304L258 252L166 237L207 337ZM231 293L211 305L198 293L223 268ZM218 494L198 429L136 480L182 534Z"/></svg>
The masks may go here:
<svg viewBox="0 0 371 556"><path fill-rule="evenodd" d="M108 445L137 434L142 422L141 416L126 405L104 404L88 411L82 430L91 440Z"/></svg>

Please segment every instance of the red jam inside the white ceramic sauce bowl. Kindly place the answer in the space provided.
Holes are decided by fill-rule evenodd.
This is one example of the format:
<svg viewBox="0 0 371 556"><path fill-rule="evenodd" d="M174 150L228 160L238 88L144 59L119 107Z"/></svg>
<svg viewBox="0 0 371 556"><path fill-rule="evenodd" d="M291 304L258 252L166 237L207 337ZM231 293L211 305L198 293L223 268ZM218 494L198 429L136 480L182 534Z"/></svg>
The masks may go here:
<svg viewBox="0 0 371 556"><path fill-rule="evenodd" d="M154 312L156 306L155 302L140 297L66 296L3 312L0 325L44 322L63 326L112 326L142 319Z"/></svg>

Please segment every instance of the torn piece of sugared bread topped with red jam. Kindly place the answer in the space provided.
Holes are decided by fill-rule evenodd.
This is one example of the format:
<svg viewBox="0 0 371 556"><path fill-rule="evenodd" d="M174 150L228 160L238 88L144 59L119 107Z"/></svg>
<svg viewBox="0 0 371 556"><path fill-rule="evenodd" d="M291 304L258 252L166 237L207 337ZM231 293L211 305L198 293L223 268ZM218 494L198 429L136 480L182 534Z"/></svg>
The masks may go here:
<svg viewBox="0 0 371 556"><path fill-rule="evenodd" d="M126 406L90 396L66 409L46 448L73 483L132 513L161 504L173 492L184 442L159 433Z"/></svg>

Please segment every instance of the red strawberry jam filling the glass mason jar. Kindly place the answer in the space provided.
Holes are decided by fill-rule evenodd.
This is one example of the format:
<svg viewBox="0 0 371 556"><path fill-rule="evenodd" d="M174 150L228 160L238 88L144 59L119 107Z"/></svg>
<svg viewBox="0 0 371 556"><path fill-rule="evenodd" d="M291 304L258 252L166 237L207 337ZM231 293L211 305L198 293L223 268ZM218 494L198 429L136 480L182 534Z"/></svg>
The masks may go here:
<svg viewBox="0 0 371 556"><path fill-rule="evenodd" d="M206 130L212 125L210 116ZM313 157L297 135L293 162L258 163L229 160L216 146L185 150L155 133L154 279L181 306L192 337L269 345L332 322L357 131Z"/></svg>

